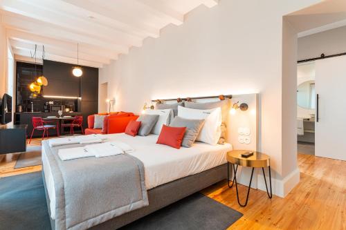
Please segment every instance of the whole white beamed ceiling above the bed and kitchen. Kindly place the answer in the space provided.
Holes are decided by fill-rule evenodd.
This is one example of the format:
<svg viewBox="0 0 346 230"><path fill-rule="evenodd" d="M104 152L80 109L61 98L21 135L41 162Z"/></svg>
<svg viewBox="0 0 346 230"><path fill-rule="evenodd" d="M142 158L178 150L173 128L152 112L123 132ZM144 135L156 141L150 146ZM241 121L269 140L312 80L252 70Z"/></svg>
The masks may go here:
<svg viewBox="0 0 346 230"><path fill-rule="evenodd" d="M179 26L184 15L201 4L218 0L0 0L1 23L16 59L37 58L101 68L143 39L159 37L170 23ZM31 59L32 60L32 59Z"/></svg>

